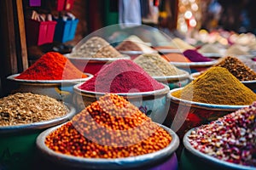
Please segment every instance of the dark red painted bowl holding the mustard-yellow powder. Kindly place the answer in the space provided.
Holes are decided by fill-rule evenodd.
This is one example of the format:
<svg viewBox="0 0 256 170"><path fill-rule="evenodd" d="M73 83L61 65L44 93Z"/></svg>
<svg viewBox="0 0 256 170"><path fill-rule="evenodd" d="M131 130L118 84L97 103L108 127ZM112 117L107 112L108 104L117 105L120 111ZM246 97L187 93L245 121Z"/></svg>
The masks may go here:
<svg viewBox="0 0 256 170"><path fill-rule="evenodd" d="M212 105L176 98L172 93L182 88L172 89L167 94L170 107L164 125L171 127L183 139L183 135L193 127L218 119L247 105Z"/></svg>

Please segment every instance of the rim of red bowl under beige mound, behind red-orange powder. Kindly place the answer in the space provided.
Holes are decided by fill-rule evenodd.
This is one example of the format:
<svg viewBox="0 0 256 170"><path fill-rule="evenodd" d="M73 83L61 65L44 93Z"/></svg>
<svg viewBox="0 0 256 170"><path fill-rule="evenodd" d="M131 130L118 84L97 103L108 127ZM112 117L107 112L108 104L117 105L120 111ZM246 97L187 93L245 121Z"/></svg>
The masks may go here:
<svg viewBox="0 0 256 170"><path fill-rule="evenodd" d="M67 59L72 60L83 60L83 61L88 61L88 62L110 62L110 61L115 61L118 59L131 59L131 57L127 54L121 54L121 57L114 57L114 58L86 58L86 57L71 57L71 54L65 54L65 57Z"/></svg>

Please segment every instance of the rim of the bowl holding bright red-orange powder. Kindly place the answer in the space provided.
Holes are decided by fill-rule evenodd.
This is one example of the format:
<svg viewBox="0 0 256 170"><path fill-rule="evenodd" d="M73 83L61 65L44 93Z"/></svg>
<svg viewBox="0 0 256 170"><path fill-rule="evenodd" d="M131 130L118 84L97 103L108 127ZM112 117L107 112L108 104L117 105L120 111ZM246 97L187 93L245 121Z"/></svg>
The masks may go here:
<svg viewBox="0 0 256 170"><path fill-rule="evenodd" d="M18 78L15 78L17 76L20 75L20 73L18 74L14 74L14 75L11 75L9 77L7 77L8 80L10 81L14 81L14 82L20 82L20 83L42 83L42 84L71 84L71 83L76 83L76 82L84 82L84 81L87 81L89 80L90 78L93 77L92 74L90 73L84 73L85 75L87 75L88 77L85 77L85 78L78 78L78 79L67 79L67 80L26 80L26 79L18 79Z"/></svg>

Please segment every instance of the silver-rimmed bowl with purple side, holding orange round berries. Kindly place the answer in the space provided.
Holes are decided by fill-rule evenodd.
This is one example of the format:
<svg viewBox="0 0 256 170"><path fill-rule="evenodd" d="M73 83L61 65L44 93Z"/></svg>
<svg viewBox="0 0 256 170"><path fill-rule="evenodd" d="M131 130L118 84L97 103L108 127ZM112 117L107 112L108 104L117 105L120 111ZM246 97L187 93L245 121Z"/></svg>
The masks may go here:
<svg viewBox="0 0 256 170"><path fill-rule="evenodd" d="M61 125L58 127L61 127ZM177 150L179 139L177 134L168 127L160 125L160 127L163 127L172 137L172 142L167 145L166 148L141 156L129 156L115 159L69 156L49 149L44 141L49 133L54 132L58 127L52 127L45 130L43 133L40 133L37 139L39 152L46 161L53 162L53 165L59 165L59 167L66 167L69 169L177 169L177 156L175 150Z"/></svg>

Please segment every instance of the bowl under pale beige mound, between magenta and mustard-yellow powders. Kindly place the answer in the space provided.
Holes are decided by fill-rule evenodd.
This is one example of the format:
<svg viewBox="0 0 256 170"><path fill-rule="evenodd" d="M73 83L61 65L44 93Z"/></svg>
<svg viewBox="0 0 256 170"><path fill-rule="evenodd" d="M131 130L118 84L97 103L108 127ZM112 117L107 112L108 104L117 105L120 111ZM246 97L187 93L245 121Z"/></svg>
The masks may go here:
<svg viewBox="0 0 256 170"><path fill-rule="evenodd" d="M181 88L189 83L189 72L183 71L181 75L153 78L157 82L165 83L172 90L174 88Z"/></svg>

